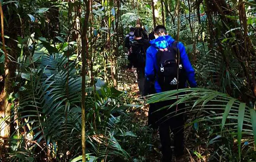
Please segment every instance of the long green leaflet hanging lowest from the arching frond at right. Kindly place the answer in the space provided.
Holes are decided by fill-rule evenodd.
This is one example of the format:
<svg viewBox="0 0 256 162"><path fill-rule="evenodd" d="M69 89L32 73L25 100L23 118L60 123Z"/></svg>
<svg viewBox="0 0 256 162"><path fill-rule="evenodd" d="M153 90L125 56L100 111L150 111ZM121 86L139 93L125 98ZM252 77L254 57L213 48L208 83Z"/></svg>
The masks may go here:
<svg viewBox="0 0 256 162"><path fill-rule="evenodd" d="M245 103L240 103L238 109L238 127L237 127L237 140L238 140L238 154L239 159L241 159L241 139L242 139L242 129L244 123L244 111L245 111Z"/></svg>

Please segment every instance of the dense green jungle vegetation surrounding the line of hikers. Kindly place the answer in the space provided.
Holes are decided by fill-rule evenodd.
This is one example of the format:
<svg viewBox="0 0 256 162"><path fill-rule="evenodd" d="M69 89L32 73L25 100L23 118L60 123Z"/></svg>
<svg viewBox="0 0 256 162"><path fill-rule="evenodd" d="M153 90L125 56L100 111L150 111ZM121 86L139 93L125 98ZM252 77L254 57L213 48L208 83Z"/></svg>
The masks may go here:
<svg viewBox="0 0 256 162"><path fill-rule="evenodd" d="M256 161L254 0L0 2L1 161L159 161L126 70L124 37L138 18L148 33L164 24L196 71L199 88L146 100L186 92L187 161Z"/></svg>

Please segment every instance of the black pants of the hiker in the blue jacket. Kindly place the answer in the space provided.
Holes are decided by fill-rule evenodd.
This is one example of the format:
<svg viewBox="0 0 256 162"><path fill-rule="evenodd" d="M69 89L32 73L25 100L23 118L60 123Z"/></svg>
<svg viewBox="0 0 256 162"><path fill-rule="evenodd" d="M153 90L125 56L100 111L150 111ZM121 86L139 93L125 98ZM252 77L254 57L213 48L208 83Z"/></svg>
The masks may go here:
<svg viewBox="0 0 256 162"><path fill-rule="evenodd" d="M157 103L158 109L166 105L171 105L174 101L162 101ZM158 125L159 125L159 136L162 145L162 155L163 162L171 162L172 160L172 149L171 149L171 139L170 130L174 134L174 154L176 157L182 156L184 154L184 104L178 105L178 111L176 111L176 106L170 109L163 109L158 114ZM174 113L172 113L174 112ZM165 115L168 117L164 117ZM180 114L182 113L182 114ZM179 114L179 115L178 115ZM164 117L163 119L161 119Z"/></svg>

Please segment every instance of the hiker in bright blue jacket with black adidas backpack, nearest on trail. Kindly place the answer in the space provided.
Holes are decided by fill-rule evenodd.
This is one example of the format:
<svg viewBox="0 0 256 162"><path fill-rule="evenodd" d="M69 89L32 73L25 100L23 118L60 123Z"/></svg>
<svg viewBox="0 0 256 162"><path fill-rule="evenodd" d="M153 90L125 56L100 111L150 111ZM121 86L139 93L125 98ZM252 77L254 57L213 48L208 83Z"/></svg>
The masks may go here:
<svg viewBox="0 0 256 162"><path fill-rule="evenodd" d="M146 51L145 82L154 82L156 93L175 90L177 86L178 88L186 88L187 80L190 87L196 87L195 72L188 59L184 45L176 42L168 35L163 25L156 26L154 35L156 39L150 41L151 46ZM179 70L177 72L178 68ZM145 91L147 89L144 87ZM157 110L166 105L171 105L175 101L158 102L156 103L155 109ZM184 160L184 117L183 113L180 114L184 110L184 106L184 104L179 104L178 111L176 110L176 106L174 106L151 114L156 116L156 123L159 126L163 155L162 162L170 162L172 160L170 129L174 135L176 160L177 162ZM175 113L175 111L177 112Z"/></svg>

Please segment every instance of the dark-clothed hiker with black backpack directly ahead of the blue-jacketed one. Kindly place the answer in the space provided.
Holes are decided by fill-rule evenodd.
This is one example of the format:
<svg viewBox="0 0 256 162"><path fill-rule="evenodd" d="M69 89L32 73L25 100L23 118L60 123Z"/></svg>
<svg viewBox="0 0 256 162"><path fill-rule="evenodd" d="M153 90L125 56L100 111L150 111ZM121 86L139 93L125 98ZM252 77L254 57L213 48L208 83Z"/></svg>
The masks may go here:
<svg viewBox="0 0 256 162"><path fill-rule="evenodd" d="M131 69L132 66L136 68L138 75L137 82L139 86L140 95L143 95L146 51L150 46L150 43L148 42L148 40L142 38L141 28L135 28L134 36L134 41L130 43L130 49L128 52L128 69Z"/></svg>

